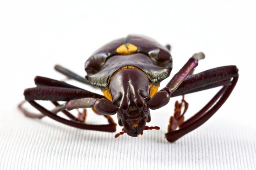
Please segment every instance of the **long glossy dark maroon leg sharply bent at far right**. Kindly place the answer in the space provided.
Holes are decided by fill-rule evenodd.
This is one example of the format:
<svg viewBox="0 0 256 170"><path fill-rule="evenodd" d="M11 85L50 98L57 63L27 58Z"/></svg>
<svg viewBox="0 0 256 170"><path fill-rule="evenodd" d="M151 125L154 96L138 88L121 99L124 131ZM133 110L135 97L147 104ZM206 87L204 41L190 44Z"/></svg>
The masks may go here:
<svg viewBox="0 0 256 170"><path fill-rule="evenodd" d="M184 123L179 126L178 130L171 129L168 133L166 133L166 139L170 142L174 142L183 135L186 135L204 124L204 122L206 122L214 113L216 113L222 104L225 103L236 86L237 81L238 70L236 66L214 68L209 71L204 71L202 73L189 76L186 81L182 82L183 85L179 87L185 92L183 93L182 90L178 90L179 88L177 88L179 93L172 94L175 94L176 96L177 94L183 95L217 86L223 87L198 113L196 113L190 119L184 121Z"/></svg>

